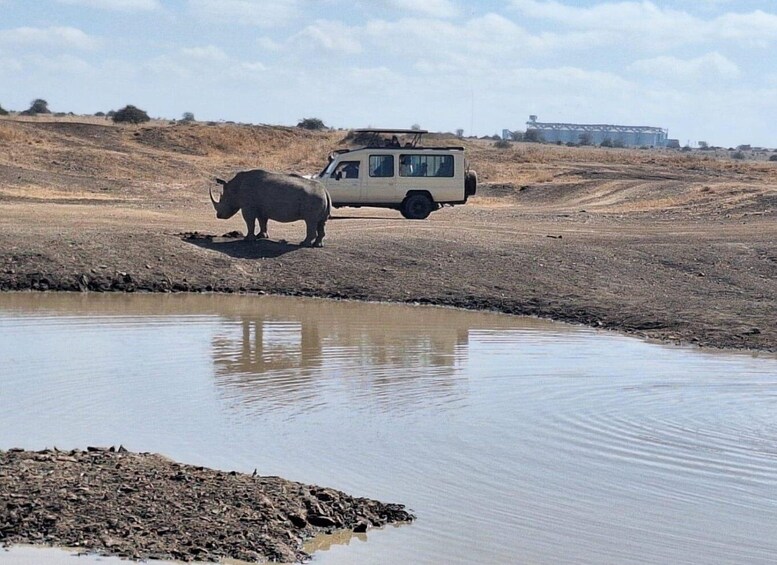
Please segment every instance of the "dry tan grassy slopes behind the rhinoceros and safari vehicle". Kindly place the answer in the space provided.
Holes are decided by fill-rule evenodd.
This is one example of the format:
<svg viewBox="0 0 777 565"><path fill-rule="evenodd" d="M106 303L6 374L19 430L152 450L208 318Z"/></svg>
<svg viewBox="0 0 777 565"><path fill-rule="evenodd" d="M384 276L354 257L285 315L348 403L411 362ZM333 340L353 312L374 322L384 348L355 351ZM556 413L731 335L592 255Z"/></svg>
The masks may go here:
<svg viewBox="0 0 777 565"><path fill-rule="evenodd" d="M207 194L213 177L240 170L316 173L344 137L343 131L279 126L166 121L134 126L102 118L15 117L0 119L0 164L30 173L9 177L9 196L26 194L37 182L30 177L44 173L49 181L40 188L57 192L52 199L102 192L131 199L154 191L184 202ZM474 199L480 206L638 212L750 201L763 207L771 206L777 192L777 163L701 152L532 143L497 149L491 140L439 135L429 144L465 146L483 183ZM488 184L504 186L489 191ZM11 186L17 188L8 192Z"/></svg>

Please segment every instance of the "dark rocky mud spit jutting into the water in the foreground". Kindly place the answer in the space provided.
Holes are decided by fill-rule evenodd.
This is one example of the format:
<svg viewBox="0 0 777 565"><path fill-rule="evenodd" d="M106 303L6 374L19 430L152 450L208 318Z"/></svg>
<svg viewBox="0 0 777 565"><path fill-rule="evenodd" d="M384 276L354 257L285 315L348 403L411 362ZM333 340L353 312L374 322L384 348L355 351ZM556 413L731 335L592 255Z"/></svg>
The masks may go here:
<svg viewBox="0 0 777 565"><path fill-rule="evenodd" d="M401 504L123 447L0 451L0 545L130 559L300 562L322 533L415 517Z"/></svg>

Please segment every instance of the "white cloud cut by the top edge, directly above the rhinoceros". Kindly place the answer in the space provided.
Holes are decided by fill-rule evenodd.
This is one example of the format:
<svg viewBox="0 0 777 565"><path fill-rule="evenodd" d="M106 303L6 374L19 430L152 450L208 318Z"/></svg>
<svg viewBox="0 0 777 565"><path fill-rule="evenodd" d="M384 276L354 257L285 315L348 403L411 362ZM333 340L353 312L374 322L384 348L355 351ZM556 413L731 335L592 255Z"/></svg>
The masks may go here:
<svg viewBox="0 0 777 565"><path fill-rule="evenodd" d="M285 25L302 13L298 0L189 0L189 9L205 21L263 28Z"/></svg>

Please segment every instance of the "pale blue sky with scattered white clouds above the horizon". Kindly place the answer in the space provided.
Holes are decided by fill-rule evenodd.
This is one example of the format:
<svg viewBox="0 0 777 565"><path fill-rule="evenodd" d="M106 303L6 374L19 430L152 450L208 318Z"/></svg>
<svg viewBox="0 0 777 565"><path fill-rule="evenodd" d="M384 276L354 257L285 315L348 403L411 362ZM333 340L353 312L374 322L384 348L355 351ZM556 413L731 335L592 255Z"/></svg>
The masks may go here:
<svg viewBox="0 0 777 565"><path fill-rule="evenodd" d="M777 0L0 0L0 105L777 147Z"/></svg>

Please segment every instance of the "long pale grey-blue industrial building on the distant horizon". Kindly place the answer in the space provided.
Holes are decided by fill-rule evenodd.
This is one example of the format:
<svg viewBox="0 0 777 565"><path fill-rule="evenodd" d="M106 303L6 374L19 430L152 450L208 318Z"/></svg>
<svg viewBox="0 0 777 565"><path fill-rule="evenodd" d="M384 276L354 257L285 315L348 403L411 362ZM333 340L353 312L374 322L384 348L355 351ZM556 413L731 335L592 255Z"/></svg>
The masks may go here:
<svg viewBox="0 0 777 565"><path fill-rule="evenodd" d="M604 142L624 147L666 147L669 137L669 130L658 127L546 123L538 122L537 116L529 116L526 122L526 132L530 131L536 133L529 135L539 136L546 143L601 145Z"/></svg>

